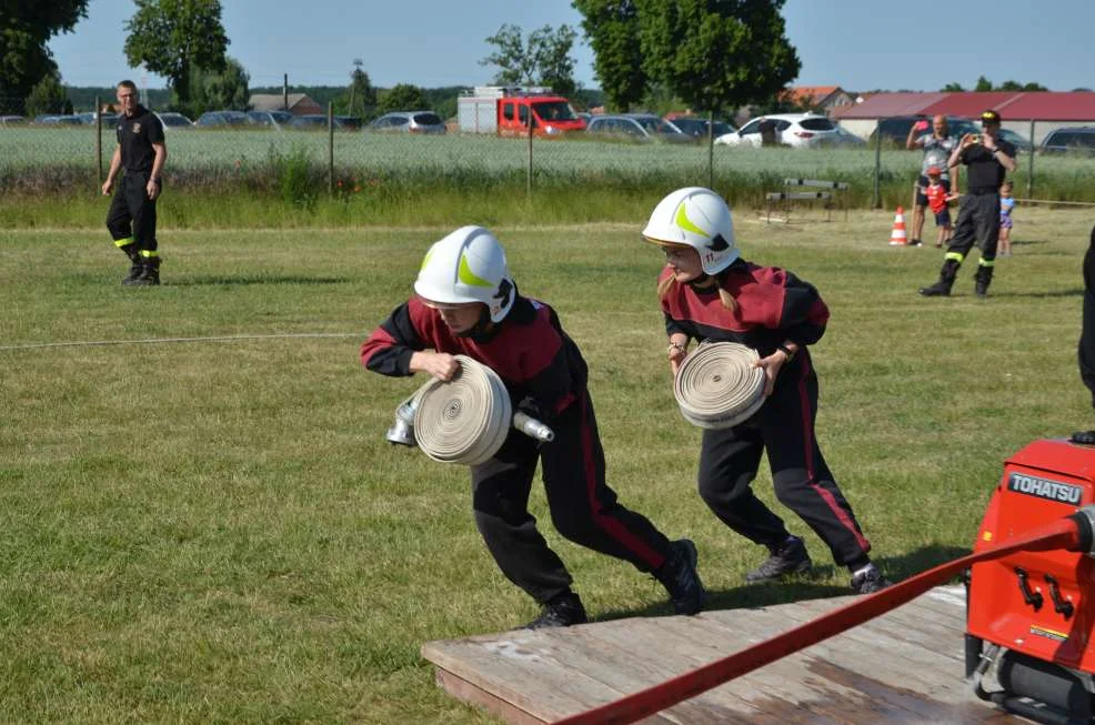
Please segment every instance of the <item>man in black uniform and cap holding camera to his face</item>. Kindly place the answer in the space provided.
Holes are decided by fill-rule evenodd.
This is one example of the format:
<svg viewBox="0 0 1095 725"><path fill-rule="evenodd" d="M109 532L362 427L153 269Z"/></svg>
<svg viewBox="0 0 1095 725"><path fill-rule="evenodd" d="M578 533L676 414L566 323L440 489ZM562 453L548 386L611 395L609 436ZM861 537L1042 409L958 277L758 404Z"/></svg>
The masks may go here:
<svg viewBox="0 0 1095 725"><path fill-rule="evenodd" d="M943 258L940 279L932 286L921 288L924 296L947 296L954 285L954 278L966 254L980 240L981 260L977 262L975 293L987 296L993 281L993 265L996 262L996 241L999 239L999 185L1008 171L1015 171L1015 147L999 138L999 113L985 111L981 114L984 133L967 133L962 137L958 148L951 153L947 165L958 163L968 167L966 172L966 193L958 208L954 236Z"/></svg>

